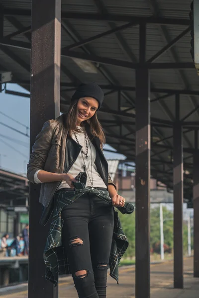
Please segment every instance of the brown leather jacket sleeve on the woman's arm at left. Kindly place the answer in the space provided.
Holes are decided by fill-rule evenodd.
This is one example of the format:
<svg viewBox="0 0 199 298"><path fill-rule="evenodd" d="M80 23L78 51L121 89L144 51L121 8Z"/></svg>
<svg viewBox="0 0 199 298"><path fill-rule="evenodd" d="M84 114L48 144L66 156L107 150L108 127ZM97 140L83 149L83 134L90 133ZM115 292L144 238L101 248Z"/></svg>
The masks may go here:
<svg viewBox="0 0 199 298"><path fill-rule="evenodd" d="M53 137L53 128L51 121L44 123L41 132L37 135L34 145L32 146L32 153L30 153L30 160L27 164L27 178L30 182L34 182L34 174L43 169L45 165L48 152L51 148L51 141Z"/></svg>

